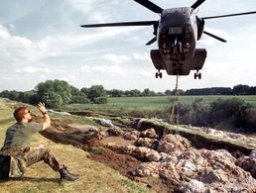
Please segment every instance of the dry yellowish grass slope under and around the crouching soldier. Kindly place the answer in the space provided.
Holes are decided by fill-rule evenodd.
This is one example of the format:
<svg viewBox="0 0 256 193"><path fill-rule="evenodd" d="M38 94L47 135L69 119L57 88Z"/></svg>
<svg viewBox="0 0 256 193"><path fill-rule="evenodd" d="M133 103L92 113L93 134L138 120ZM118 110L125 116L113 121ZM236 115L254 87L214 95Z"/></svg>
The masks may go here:
<svg viewBox="0 0 256 193"><path fill-rule="evenodd" d="M6 129L14 123L13 109L10 101L0 98L0 145L3 144ZM35 110L35 108L32 108ZM35 135L32 145L48 143L41 135ZM88 158L88 153L72 145L61 145L50 142L57 157L80 179L74 182L59 180L59 173L53 171L44 162L36 163L28 168L19 179L0 181L0 192L148 192L144 185L121 176L118 172L101 163Z"/></svg>

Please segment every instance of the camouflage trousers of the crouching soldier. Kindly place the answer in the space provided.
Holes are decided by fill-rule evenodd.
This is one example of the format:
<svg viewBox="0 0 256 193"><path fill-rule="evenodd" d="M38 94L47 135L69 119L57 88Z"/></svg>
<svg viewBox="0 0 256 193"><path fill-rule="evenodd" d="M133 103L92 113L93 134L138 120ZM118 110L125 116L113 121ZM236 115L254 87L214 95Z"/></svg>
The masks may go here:
<svg viewBox="0 0 256 193"><path fill-rule="evenodd" d="M52 150L46 145L26 147L20 150L10 151L5 156L10 157L10 177L22 176L27 167L42 160L49 164L55 171L59 171L63 167Z"/></svg>

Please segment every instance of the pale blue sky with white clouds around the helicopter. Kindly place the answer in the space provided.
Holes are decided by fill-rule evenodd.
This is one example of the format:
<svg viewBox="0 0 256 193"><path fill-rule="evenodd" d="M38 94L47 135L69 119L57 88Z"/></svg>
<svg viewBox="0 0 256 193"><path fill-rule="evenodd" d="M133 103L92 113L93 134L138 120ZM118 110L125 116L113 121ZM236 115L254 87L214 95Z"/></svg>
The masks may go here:
<svg viewBox="0 0 256 193"><path fill-rule="evenodd" d="M152 0L160 7L190 7L192 0ZM46 80L65 80L77 88L164 92L176 77L157 71L150 58L153 28L84 29L91 23L159 20L133 0L0 0L0 91L35 89ZM206 0L198 17L256 11L255 0ZM256 14L205 21L205 31L227 43L202 36L206 48L200 80L179 78L179 88L256 86Z"/></svg>

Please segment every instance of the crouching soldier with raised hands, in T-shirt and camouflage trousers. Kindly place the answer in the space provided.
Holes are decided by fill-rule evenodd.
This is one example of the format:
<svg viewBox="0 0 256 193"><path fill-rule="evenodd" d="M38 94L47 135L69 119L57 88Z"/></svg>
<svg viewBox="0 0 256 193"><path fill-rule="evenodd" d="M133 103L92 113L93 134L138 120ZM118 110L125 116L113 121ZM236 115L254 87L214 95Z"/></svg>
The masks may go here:
<svg viewBox="0 0 256 193"><path fill-rule="evenodd" d="M47 145L36 147L28 143L33 134L46 130L51 126L51 119L44 103L38 104L44 123L33 123L31 112L27 107L19 107L14 111L17 123L6 131L4 145L0 151L0 178L19 177L25 173L26 167L44 160L55 171L59 171L62 180L74 181L79 175L72 174L60 163Z"/></svg>

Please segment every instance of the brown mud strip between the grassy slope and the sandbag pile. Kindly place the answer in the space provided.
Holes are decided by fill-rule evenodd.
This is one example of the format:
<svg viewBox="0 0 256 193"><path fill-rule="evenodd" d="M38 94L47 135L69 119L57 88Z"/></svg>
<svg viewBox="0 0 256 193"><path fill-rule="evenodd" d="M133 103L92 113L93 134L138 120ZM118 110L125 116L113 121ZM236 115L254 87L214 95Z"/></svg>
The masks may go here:
<svg viewBox="0 0 256 193"><path fill-rule="evenodd" d="M74 128L71 121L59 120L52 121L52 128L41 132L41 134L55 143L64 145L74 145L90 152L89 158L101 162L120 172L122 175L144 184L156 192L174 192L176 187L169 183L167 179L158 179L154 177L136 177L131 175L130 171L139 167L141 160L129 154L123 153L118 146L129 145L134 141L126 141L120 137L110 137L100 141L97 136L89 136L81 132L81 126ZM77 125L76 125L77 126ZM102 131L107 128L100 128ZM86 129L88 131L88 128ZM71 136L79 135L79 139L73 139ZM115 142L115 146L110 144Z"/></svg>

